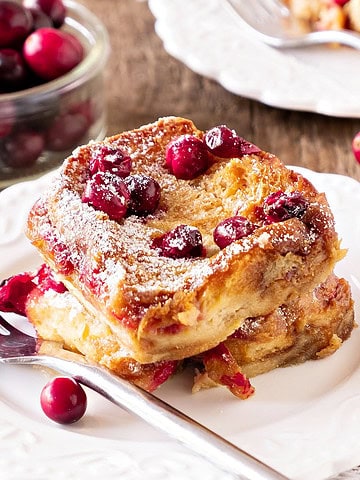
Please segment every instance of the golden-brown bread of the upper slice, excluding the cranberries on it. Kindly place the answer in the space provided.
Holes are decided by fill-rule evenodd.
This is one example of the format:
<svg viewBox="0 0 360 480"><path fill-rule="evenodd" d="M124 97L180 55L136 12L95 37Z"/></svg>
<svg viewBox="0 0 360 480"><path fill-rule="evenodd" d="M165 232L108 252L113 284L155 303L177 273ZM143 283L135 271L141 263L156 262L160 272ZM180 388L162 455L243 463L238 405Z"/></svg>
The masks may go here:
<svg viewBox="0 0 360 480"><path fill-rule="evenodd" d="M161 186L159 208L146 221L115 222L81 202L96 143L65 161L28 221L27 234L46 263L143 363L216 346L247 317L268 315L311 291L343 254L325 196L271 154L214 157L196 179L176 179L165 167L165 149L183 133L203 136L189 120L168 117L106 140L130 154L132 173ZM309 202L305 217L263 225L219 251L212 240L219 221L235 214L255 221L257 207L278 190L300 191ZM149 247L184 223L200 229L206 257L171 259Z"/></svg>

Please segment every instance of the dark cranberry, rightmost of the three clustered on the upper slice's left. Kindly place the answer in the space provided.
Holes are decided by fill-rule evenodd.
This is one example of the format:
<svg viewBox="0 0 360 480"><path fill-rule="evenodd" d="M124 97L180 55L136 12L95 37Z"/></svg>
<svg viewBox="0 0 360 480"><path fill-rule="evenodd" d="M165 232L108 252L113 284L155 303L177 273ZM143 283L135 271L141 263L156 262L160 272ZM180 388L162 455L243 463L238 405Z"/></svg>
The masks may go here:
<svg viewBox="0 0 360 480"><path fill-rule="evenodd" d="M124 179L129 194L129 213L147 215L153 213L160 201L160 185L147 175L130 175Z"/></svg>

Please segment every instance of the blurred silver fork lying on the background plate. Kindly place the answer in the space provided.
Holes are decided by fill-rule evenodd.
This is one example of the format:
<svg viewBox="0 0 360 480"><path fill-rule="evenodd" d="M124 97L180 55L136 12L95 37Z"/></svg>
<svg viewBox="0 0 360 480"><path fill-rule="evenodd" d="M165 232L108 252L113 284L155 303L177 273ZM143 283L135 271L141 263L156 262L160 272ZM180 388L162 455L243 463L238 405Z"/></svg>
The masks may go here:
<svg viewBox="0 0 360 480"><path fill-rule="evenodd" d="M360 34L348 30L302 33L280 0L224 0L224 5L262 42L276 48L339 43L360 49Z"/></svg>

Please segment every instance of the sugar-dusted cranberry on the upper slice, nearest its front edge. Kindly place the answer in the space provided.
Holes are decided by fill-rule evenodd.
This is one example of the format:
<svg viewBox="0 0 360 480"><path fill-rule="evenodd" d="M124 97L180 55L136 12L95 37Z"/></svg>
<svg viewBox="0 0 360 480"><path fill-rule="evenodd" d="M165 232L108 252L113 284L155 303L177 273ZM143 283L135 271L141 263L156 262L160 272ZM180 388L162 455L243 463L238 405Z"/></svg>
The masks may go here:
<svg viewBox="0 0 360 480"><path fill-rule="evenodd" d="M200 257L203 254L201 233L189 225L178 225L155 238L152 247L164 257L171 258Z"/></svg>

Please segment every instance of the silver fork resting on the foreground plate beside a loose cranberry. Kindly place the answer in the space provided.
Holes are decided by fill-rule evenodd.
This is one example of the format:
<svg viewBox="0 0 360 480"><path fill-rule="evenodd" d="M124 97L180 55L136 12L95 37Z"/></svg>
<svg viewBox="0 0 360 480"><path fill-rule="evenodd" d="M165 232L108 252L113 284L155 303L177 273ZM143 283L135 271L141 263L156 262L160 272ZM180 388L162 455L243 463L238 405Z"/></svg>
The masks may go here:
<svg viewBox="0 0 360 480"><path fill-rule="evenodd" d="M39 351L41 348L39 350L35 337L23 333L0 316L0 364L42 365L71 376L239 479L288 480L171 405L109 370L85 361L69 361L53 353L39 354Z"/></svg>

